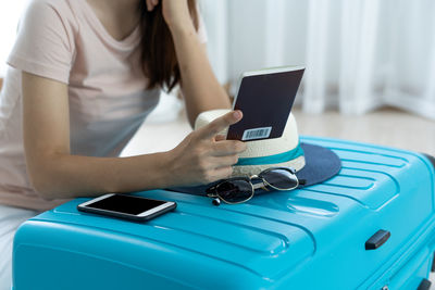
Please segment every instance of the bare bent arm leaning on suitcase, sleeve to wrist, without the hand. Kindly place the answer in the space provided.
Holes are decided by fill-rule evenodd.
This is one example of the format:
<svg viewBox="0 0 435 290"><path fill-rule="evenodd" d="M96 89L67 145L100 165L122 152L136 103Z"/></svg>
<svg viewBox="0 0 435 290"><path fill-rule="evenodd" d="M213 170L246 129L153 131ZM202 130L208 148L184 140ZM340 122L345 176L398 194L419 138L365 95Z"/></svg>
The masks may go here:
<svg viewBox="0 0 435 290"><path fill-rule="evenodd" d="M23 73L23 133L27 171L45 198L98 196L164 186L164 153L137 157L70 154L65 84Z"/></svg>

